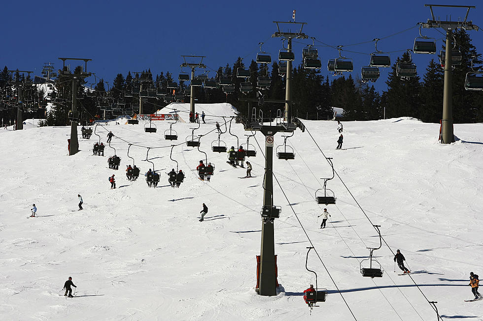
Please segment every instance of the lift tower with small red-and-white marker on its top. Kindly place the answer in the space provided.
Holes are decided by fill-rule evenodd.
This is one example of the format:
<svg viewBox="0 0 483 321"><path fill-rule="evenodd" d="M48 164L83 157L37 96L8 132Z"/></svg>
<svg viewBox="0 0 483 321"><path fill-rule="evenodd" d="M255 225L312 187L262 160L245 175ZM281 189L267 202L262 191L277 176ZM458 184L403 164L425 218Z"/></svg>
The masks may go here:
<svg viewBox="0 0 483 321"><path fill-rule="evenodd" d="M294 14L295 17L295 14ZM284 38L287 39L287 52L292 52L292 39L307 39L308 35L302 32L305 22L295 22L294 21L274 21L276 24L277 31L272 34L272 38ZM287 31L283 31L282 27L287 26ZM292 32L291 27L295 27L295 32ZM290 122L292 119L292 61L287 60L287 74L285 78L285 112L283 115L283 120Z"/></svg>

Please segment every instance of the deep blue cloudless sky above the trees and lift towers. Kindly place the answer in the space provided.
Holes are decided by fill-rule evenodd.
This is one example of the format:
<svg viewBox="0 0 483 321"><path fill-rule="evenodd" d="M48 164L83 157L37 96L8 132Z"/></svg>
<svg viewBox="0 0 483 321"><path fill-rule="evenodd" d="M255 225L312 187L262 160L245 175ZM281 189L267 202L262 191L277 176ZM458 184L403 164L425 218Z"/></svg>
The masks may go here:
<svg viewBox="0 0 483 321"><path fill-rule="evenodd" d="M237 57L245 64L254 59L258 43L276 58L281 48L273 21L290 21L296 9L296 21L306 22L304 31L325 44L349 45L373 38L382 38L411 28L430 18L424 3L432 1L4 1L2 3L2 49L0 63L8 68L35 70L40 75L44 62L61 66L58 57L92 58L88 70L111 83L117 73L151 68L153 73L180 71L180 55L207 56L207 67L216 70ZM439 4L460 1L439 0ZM470 11L469 20L483 27L483 4ZM401 6L402 5L402 6ZM435 14L452 20L463 16L462 9L435 9ZM443 20L443 19L442 19ZM423 29L423 34L437 39L443 35L436 30ZM382 51L412 48L418 29L414 28L378 43ZM483 52L483 30L470 31L473 44ZM310 41L304 40L309 43ZM443 42L438 41L438 48ZM321 43L317 43L321 44ZM294 43L296 58L304 47ZM322 74L327 75L327 60L338 57L337 50L318 47ZM367 65L374 43L348 46L345 49L364 54L345 52L353 58L353 77ZM402 51L392 53L394 61ZM413 55L419 74L436 55ZM378 90L388 68L381 68L381 78L375 83ZM214 76L214 72L211 76ZM331 77L332 79L332 77ZM94 83L94 77L88 79Z"/></svg>

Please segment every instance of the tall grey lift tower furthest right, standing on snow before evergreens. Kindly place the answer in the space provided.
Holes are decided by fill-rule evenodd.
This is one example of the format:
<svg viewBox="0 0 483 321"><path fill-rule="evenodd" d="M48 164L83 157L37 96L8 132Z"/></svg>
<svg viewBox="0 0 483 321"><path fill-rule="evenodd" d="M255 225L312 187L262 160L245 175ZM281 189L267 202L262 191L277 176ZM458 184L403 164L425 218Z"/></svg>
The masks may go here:
<svg viewBox="0 0 483 321"><path fill-rule="evenodd" d="M443 89L443 119L441 119L441 143L454 143L453 134L453 107L451 92L451 40L453 40L453 30L478 30L478 26L473 25L472 21L468 21L470 9L475 8L474 5L446 5L446 4L425 4L431 11L431 19L425 23L419 23L423 28L442 28L446 30L446 55L445 55L445 83ZM466 8L466 16L463 21L441 21L437 20L433 13L433 7L446 8Z"/></svg>

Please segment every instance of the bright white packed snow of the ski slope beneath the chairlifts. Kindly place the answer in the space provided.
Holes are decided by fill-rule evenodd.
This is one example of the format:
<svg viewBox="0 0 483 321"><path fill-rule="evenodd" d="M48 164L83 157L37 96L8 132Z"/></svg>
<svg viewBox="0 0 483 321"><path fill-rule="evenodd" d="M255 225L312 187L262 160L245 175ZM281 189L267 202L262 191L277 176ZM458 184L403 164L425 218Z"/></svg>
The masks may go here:
<svg viewBox="0 0 483 321"><path fill-rule="evenodd" d="M197 105L202 110L207 123L194 134L209 132L200 146L215 165L209 182L192 171L205 154L184 143L195 127L190 123L173 125L173 142L163 137L168 122L158 121L152 134L141 125L98 126L104 144L108 131L116 135L105 157L92 156L98 137L82 139L80 130L81 151L67 156L69 127L0 130L1 320L308 320L302 292L315 285L305 267L311 243L294 211L331 276L312 250L308 267L317 272L318 287L329 292L313 309L313 320L354 320L343 297L357 320L435 320L420 291L438 301L444 320L483 320L483 301L464 302L473 298L469 272L483 277L483 124L456 124L457 142L441 145L439 125L416 119L344 122L346 149L335 150L337 122L304 121L308 132L297 130L287 140L294 160L279 160L274 150L274 175L288 202L274 180L274 204L282 208L275 221L281 286L270 297L254 290L264 137L250 139L257 150L249 159L256 177L240 179L244 169L227 164L226 153L211 151L218 139L214 122L225 130L223 118L214 115L233 115L231 107ZM250 134L235 121L231 132L239 140L222 134L228 147L246 143ZM404 254L419 289L409 276L397 275L397 267L394 272L384 242L374 252L383 277L362 277L360 261L369 255L366 247L379 246L379 236L337 175L327 183L337 204L315 203L320 178L332 171L309 133L333 157L337 174L381 226L392 251ZM134 160L125 141L135 144L129 153ZM275 143L283 144L280 134ZM172 144L179 144L172 154L178 164L170 158ZM146 155L140 146L163 148ZM122 158L118 171L107 168L114 148ZM148 188L144 176L135 182L125 176L128 164L140 167L141 175L153 168L146 156L161 175L156 189ZM176 189L165 174L172 168L186 173ZM112 174L117 188L111 190ZM38 217L28 218L34 203ZM209 212L199 222L203 203ZM324 207L331 217L321 230L317 215ZM69 276L77 286L74 298L63 296Z"/></svg>

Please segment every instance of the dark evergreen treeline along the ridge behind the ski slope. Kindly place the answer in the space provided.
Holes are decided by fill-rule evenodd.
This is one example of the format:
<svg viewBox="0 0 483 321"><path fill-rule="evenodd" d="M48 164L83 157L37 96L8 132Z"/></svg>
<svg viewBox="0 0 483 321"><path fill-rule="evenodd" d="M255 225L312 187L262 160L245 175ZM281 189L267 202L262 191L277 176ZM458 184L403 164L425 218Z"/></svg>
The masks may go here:
<svg viewBox="0 0 483 321"><path fill-rule="evenodd" d="M453 119L455 123L462 122L482 122L483 121L483 92L467 91L464 88L466 73L471 70L472 57L480 55L476 48L471 44L469 35L464 30L455 33L456 43L459 44L462 54L461 66L455 66L452 71L452 103ZM439 122L442 117L443 109L443 80L444 70L439 61L431 59L427 67L419 65L417 70L423 73L422 78L416 76L410 80L401 80L396 76L396 64L398 61L407 61L408 53L397 58L391 67L391 72L386 80L387 89L380 94L374 86L362 83L360 79L348 77L325 77L320 71L307 70L302 67L302 63L294 61L292 70L292 100L293 115L295 117L308 119L329 119L333 116L332 107L344 109L343 117L345 120L375 120L385 117L415 117L425 122ZM476 65L480 60L474 61ZM247 97L256 99L256 82L260 75L260 65L251 60L249 65L245 65L242 58L238 58L233 65L226 64L219 67L216 71L216 78L231 77L236 91L225 94L221 88L205 89L195 87L196 103L220 103L228 102L235 106L243 115L249 115L248 105L240 101L239 98ZM272 80L271 87L263 90L265 100L284 100L285 99L285 79L278 72L278 63L274 61L268 66L267 76ZM5 67L6 68L6 67ZM238 68L248 68L251 73L250 82L254 90L248 94L239 91L240 83L244 79L237 78ZM4 69L6 70L6 69ZM80 72L79 67L74 73ZM264 73L262 73L265 75ZM1 75L0 75L1 76ZM1 81L1 77L0 77ZM129 72L126 76L116 75L112 86L106 88L104 80L101 79L95 86L95 93L90 96L83 94L86 92L84 81L78 85L77 97L79 99L79 110L83 111L84 119L96 115L101 117L99 109L99 98L106 95L111 102L122 100L128 108L132 108L134 113L138 110L138 98L129 93L135 90L139 82L148 81L153 84L153 90L172 95L173 89L167 88L169 82L177 82L177 75L170 72L153 75L149 69L143 73L136 73L134 76ZM379 79L378 81L383 81ZM175 94L189 94L189 89L184 82L179 82L179 87ZM56 81L58 103L52 111L48 113L48 125L65 125L68 123L67 113L70 109L69 99L71 96L71 83L67 82L62 76ZM188 89L188 90L187 90ZM89 91L90 89L87 89ZM189 96L185 97L185 102L189 102ZM143 104L144 113L152 113L168 105L168 102L157 98L147 98ZM252 104L258 107L258 104ZM263 104L260 109L264 117L276 117L277 110L283 111L283 104L268 103ZM92 115L92 116L91 116Z"/></svg>

